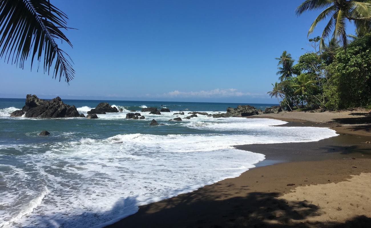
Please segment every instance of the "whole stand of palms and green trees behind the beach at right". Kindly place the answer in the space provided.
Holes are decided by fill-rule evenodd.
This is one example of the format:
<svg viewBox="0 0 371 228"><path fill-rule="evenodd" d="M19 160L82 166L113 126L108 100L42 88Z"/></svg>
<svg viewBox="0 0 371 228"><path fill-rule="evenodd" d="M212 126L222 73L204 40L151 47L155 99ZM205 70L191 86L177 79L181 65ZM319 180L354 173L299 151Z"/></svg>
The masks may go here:
<svg viewBox="0 0 371 228"><path fill-rule="evenodd" d="M286 50L276 58L280 82L268 93L289 111L371 108L371 0L306 0L296 14L318 9L324 10L308 36L320 21L328 23L321 36L309 39L314 50L296 64ZM346 33L347 21L355 34Z"/></svg>

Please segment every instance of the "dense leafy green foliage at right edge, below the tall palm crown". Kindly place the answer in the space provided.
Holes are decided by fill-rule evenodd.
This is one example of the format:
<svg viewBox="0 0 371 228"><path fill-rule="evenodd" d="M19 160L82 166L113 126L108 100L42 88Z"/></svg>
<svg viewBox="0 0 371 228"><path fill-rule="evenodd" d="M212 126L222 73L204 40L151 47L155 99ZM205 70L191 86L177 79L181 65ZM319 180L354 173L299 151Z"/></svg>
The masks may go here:
<svg viewBox="0 0 371 228"><path fill-rule="evenodd" d="M354 40L347 53L339 51L326 67L331 86L326 87L328 106L333 109L371 104L371 34ZM335 92L335 93L333 93Z"/></svg>

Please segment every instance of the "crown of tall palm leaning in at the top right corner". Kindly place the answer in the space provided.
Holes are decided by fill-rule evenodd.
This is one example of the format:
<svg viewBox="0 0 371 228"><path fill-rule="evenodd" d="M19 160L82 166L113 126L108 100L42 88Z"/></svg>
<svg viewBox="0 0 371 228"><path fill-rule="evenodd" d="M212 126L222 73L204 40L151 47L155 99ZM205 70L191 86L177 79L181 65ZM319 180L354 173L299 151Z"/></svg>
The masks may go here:
<svg viewBox="0 0 371 228"><path fill-rule="evenodd" d="M324 9L325 8L325 9ZM305 11L324 9L314 20L308 31L308 36L313 32L319 22L329 17L330 20L322 32L320 50L324 47L325 38L329 37L332 30L332 38L339 38L344 49L347 49L347 20L356 24L364 25L370 23L371 0L305 0L298 8L296 15L300 16Z"/></svg>

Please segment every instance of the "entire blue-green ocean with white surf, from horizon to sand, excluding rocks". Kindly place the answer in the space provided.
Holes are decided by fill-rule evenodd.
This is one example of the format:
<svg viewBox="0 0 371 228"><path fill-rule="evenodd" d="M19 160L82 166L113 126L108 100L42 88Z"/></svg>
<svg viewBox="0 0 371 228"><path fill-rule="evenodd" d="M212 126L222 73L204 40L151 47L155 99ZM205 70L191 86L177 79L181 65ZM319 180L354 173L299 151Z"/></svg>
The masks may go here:
<svg viewBox="0 0 371 228"><path fill-rule="evenodd" d="M0 227L104 227L140 205L239 176L265 159L233 145L336 136L328 128L275 126L286 122L273 119L168 121L178 111L185 112L181 118L213 114L237 103L63 100L85 115L99 102L124 112L98 119L10 117L24 102L0 98ZM139 112L145 107L171 112ZM125 119L130 110L145 119ZM164 125L150 126L152 119ZM38 136L42 130L50 135Z"/></svg>

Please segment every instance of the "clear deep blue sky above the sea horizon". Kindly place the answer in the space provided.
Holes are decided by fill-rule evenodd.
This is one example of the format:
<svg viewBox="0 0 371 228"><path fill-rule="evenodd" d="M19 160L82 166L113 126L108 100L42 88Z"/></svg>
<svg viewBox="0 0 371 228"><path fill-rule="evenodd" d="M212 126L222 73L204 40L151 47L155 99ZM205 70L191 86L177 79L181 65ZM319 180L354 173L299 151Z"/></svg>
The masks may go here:
<svg viewBox="0 0 371 228"><path fill-rule="evenodd" d="M1 60L0 97L274 103L266 95L278 80L274 58L310 50L318 14L296 17L302 0L51 2L78 29L66 32L73 48L62 44L75 79L67 85Z"/></svg>

